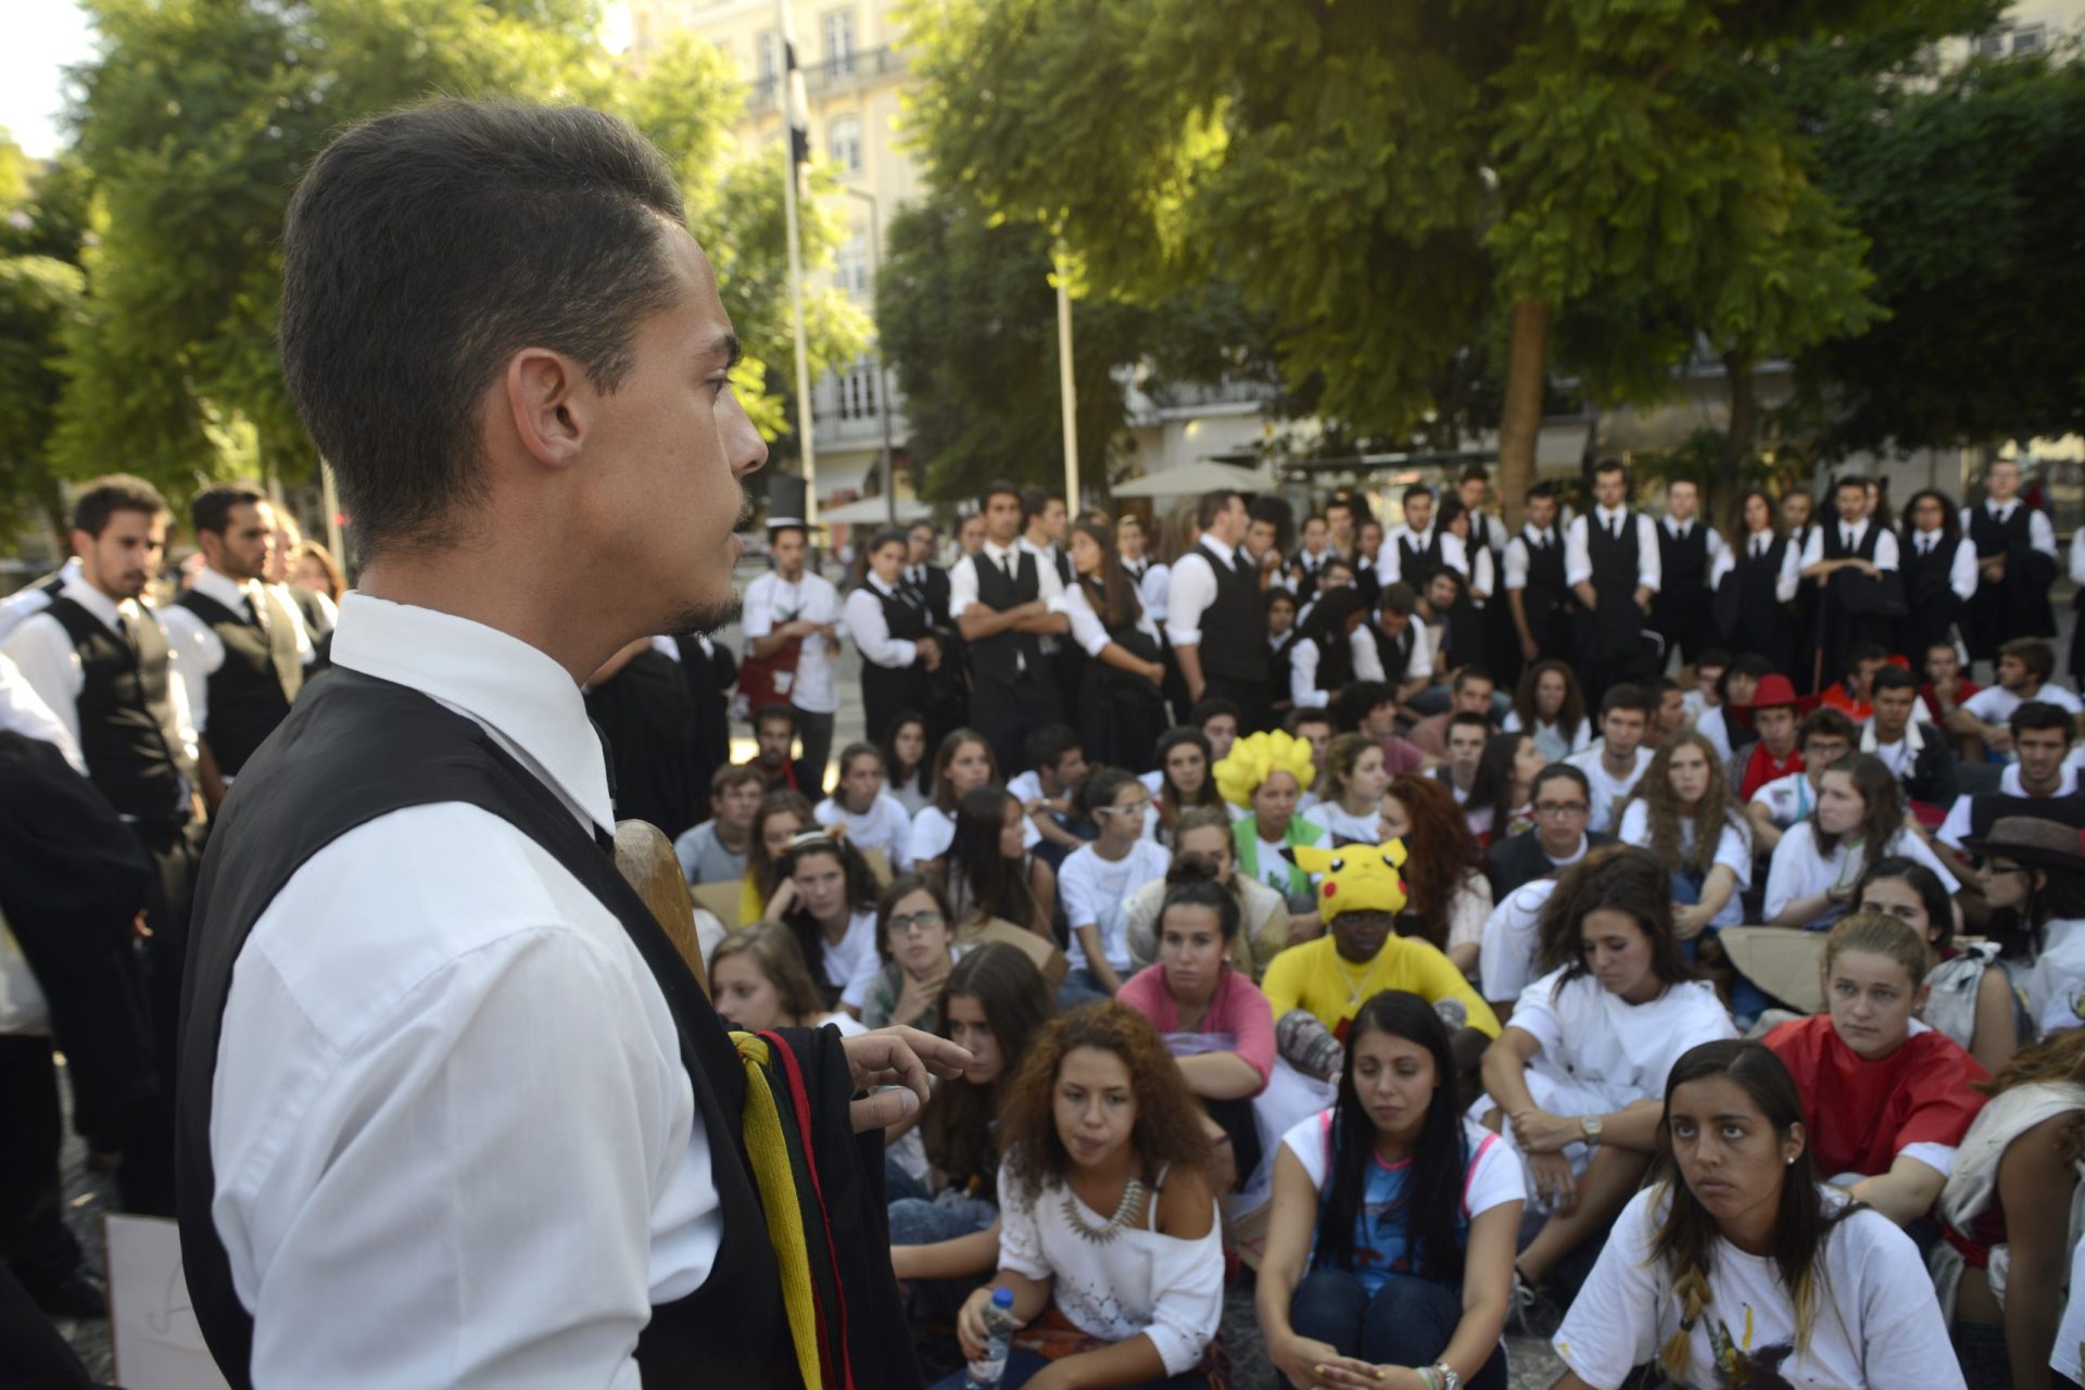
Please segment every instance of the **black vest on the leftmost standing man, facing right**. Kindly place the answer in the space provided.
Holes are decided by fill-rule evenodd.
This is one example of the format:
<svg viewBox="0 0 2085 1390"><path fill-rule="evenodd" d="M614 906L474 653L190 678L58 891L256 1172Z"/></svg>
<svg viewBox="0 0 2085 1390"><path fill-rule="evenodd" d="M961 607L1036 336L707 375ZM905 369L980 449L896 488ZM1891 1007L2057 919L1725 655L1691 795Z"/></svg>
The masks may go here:
<svg viewBox="0 0 2085 1390"><path fill-rule="evenodd" d="M167 634L140 609L125 642L71 598L52 598L50 617L79 654L79 752L88 775L121 815L186 821L196 769L173 725L167 690ZM186 781L186 788L183 788Z"/></svg>

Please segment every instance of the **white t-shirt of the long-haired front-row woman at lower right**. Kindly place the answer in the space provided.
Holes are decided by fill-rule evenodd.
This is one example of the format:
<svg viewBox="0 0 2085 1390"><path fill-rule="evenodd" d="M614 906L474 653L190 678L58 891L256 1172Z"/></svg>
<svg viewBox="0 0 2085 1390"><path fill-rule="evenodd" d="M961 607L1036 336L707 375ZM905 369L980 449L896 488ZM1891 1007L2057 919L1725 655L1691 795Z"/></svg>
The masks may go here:
<svg viewBox="0 0 2085 1390"><path fill-rule="evenodd" d="M1845 1196L1824 1188L1824 1200L1843 1202ZM1557 1330L1557 1357L1589 1386L1620 1386L1633 1367L1655 1361L1681 1327L1672 1275L1653 1257L1666 1205L1660 1184L1622 1209L1608 1248ZM1889 1217L1856 1211L1833 1225L1822 1275L1810 1342L1797 1352L1795 1309L1774 1261L1718 1240L1708 1269L1710 1300L1689 1336L1687 1384L1962 1388L1933 1280L1912 1238Z"/></svg>

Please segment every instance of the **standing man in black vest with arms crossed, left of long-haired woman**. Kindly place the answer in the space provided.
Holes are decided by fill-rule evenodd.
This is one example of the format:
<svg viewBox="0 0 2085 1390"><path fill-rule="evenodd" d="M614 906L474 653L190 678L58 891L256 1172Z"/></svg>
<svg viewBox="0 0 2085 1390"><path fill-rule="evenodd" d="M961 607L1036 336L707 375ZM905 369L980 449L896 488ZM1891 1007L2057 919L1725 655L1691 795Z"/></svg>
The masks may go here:
<svg viewBox="0 0 2085 1390"><path fill-rule="evenodd" d="M1051 609L1063 596L1057 569L1020 544L1020 488L986 483L978 511L984 546L949 571L949 613L970 652L970 727L984 736L1011 777L1028 769L1028 729L1063 723L1063 698L1042 638L1063 636L1072 623Z"/></svg>

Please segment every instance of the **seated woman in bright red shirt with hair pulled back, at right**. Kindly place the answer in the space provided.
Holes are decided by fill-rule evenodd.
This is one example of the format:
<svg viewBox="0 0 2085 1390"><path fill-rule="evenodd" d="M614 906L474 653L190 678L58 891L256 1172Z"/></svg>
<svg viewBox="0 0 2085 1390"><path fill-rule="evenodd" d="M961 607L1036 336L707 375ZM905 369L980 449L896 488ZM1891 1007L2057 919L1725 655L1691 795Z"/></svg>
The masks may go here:
<svg viewBox="0 0 2085 1390"><path fill-rule="evenodd" d="M1856 913L1824 942L1831 1013L1766 1034L1810 1109L1810 1146L1833 1182L1897 1225L1927 1215L1989 1073L1912 1017L1927 944L1887 913Z"/></svg>

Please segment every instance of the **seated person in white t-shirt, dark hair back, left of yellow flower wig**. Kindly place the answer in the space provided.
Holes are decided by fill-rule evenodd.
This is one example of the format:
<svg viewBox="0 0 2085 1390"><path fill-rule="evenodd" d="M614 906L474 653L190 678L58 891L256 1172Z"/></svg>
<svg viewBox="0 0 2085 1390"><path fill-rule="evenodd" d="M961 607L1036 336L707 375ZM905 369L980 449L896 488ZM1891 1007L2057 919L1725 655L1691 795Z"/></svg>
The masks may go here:
<svg viewBox="0 0 2085 1390"><path fill-rule="evenodd" d="M1065 954L1072 971L1059 1004L1107 998L1130 973L1128 902L1151 879L1166 877L1172 857L1143 836L1151 794L1120 767L1097 767L1078 790L1078 809L1101 834L1065 854L1057 873L1063 919L1072 929Z"/></svg>

